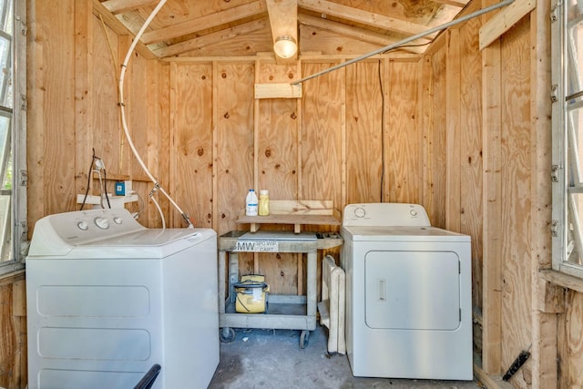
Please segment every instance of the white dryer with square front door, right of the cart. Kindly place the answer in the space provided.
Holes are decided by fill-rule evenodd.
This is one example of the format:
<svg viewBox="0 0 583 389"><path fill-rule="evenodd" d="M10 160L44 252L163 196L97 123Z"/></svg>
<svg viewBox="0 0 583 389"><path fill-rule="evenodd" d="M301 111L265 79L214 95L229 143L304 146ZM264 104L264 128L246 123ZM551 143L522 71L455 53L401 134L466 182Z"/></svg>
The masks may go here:
<svg viewBox="0 0 583 389"><path fill-rule="evenodd" d="M341 234L353 375L472 380L470 237L403 203L348 205Z"/></svg>

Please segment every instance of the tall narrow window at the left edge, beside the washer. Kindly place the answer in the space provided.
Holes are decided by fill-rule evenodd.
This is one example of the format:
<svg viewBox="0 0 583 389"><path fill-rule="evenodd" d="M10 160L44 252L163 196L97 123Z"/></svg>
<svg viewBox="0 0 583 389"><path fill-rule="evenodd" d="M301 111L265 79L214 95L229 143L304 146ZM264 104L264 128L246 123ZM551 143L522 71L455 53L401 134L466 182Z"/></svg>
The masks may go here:
<svg viewBox="0 0 583 389"><path fill-rule="evenodd" d="M0 274L22 268L26 243L26 19L18 15L24 3L0 0Z"/></svg>

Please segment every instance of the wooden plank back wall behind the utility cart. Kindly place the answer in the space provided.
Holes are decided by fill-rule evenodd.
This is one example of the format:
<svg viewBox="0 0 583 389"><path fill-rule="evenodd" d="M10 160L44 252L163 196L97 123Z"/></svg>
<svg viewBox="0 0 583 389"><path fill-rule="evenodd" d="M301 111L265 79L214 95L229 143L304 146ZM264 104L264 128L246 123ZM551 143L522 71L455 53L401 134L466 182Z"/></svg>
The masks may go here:
<svg viewBox="0 0 583 389"><path fill-rule="evenodd" d="M338 211L349 202L381 201L383 185L385 200L416 202L420 135L411 97L418 87L410 67L419 58L408 58L366 61L318 77L303 86L301 100L255 100L253 86L290 82L342 58L312 56L297 66L276 65L271 56L170 61L175 200L196 214L197 225L220 234L247 228L235 221L250 188L269 189L272 200L332 200ZM400 114L384 121L384 110ZM391 146L385 140L384 149L389 137ZM371 152L357 152L363 148ZM397 163L405 156L407 163ZM172 225L180 226L180 220ZM240 266L242 272L265 274L271 292L290 293L302 290L297 266L303 260L294 254L241 254Z"/></svg>

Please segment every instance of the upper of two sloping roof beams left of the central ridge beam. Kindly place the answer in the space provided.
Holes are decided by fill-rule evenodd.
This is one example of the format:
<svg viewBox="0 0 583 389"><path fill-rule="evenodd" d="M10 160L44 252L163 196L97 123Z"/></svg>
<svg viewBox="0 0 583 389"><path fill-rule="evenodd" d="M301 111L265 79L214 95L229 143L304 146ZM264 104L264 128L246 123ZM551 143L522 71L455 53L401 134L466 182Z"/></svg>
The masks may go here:
<svg viewBox="0 0 583 389"><path fill-rule="evenodd" d="M200 16L196 19L188 20L177 25L149 31L144 33L141 38L141 42L144 45L163 42L171 38L193 34L197 31L201 31L207 28L221 26L226 23L243 19L245 17L259 15L263 12L265 12L264 3L261 1L254 1L246 5L239 5L224 11L220 11L215 14Z"/></svg>

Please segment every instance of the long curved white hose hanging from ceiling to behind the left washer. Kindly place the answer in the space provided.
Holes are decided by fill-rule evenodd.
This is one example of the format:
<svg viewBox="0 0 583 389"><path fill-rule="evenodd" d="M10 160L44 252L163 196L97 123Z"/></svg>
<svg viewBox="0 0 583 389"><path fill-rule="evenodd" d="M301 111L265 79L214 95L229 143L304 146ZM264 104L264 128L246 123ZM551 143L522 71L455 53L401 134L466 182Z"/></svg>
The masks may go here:
<svg viewBox="0 0 583 389"><path fill-rule="evenodd" d="M146 164L144 163L144 161L139 157L138 149L134 145L134 142L132 141L132 139L131 139L131 137L129 135L128 123L126 121L126 110L125 110L125 107L124 107L124 77L126 76L126 69L128 68L129 58L130 58L131 54L133 53L134 48L136 47L136 45L138 45L138 41L139 41L140 37L144 34L144 31L149 26L149 24L151 23L152 19L154 19L154 17L158 14L158 12L159 12L160 8L162 7L162 5L164 5L165 3L166 3L166 0L160 0L159 1L159 4L156 5L156 7L152 11L152 13L148 16L148 19L146 19L146 21L144 22L144 25L139 29L138 34L134 37L131 45L129 46L128 53L126 54L126 58L124 59L124 62L121 65L121 71L119 73L119 87L118 87L118 91L119 91L119 109L121 110L121 125L124 128L124 133L126 134L126 138L128 138L129 147L131 148L132 152L134 153L134 156L136 157L136 159L138 159L139 165L142 167L142 169L144 169L144 171L148 175L148 178L152 181L152 183L154 183L154 189L152 189L150 191L149 196L150 196L150 199L152 199L152 201L156 205L156 208L159 210L159 214L160 214L160 216L162 218L162 228L166 228L166 221L164 220L164 215L162 213L162 210L159 207L158 201L156 201L154 199L154 197L153 197L154 193L157 190L159 190L160 192L162 192L162 194L164 196L166 196L166 198L170 201L170 203L174 206L174 208L176 208L176 210L179 211L180 215L182 215L182 218L184 220L186 220L186 222L189 224L189 228L193 228L192 222L189 220L189 216L186 213L184 213L183 210L180 209L180 207L176 203L176 201L172 200L172 198L169 196L169 194L166 192L166 190L164 190L162 187L160 187L159 182L158 182L158 179L156 179L150 173L150 171L148 170L148 167L146 166Z"/></svg>

